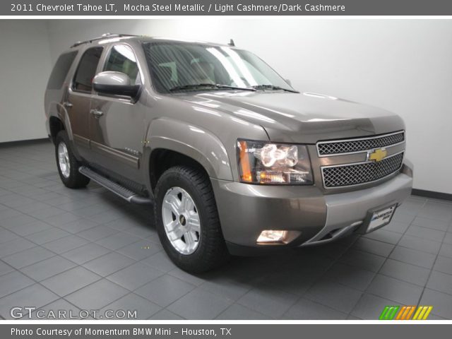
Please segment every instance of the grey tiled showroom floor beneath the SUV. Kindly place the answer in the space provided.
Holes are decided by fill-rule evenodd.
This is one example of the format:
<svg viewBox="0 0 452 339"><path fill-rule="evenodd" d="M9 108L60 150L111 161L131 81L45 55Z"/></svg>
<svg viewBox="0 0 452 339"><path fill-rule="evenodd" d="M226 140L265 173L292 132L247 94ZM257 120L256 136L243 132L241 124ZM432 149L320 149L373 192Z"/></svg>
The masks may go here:
<svg viewBox="0 0 452 339"><path fill-rule="evenodd" d="M152 220L95 184L66 189L50 143L0 146L0 316L376 319L387 304L428 304L432 319L452 319L450 201L412 196L383 230L197 276L169 261Z"/></svg>

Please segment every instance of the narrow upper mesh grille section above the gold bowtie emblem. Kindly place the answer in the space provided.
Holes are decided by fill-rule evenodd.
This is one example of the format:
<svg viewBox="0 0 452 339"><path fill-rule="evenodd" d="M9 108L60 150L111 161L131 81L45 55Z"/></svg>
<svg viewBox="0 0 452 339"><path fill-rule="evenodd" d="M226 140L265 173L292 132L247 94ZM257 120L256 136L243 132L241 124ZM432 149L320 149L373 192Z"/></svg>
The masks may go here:
<svg viewBox="0 0 452 339"><path fill-rule="evenodd" d="M317 143L320 156L362 152L395 145L405 141L405 132L396 132L370 138L349 139L343 141L321 141Z"/></svg>

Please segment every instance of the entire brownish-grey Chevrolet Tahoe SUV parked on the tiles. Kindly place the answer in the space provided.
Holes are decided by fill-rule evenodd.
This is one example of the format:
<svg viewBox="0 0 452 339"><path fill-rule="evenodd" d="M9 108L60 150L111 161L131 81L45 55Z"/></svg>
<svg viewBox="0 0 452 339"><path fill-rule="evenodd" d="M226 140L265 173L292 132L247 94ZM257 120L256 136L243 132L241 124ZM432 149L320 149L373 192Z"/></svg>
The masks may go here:
<svg viewBox="0 0 452 339"><path fill-rule="evenodd" d="M299 93L233 44L78 42L45 112L62 182L153 202L162 246L190 272L371 232L412 187L400 117Z"/></svg>

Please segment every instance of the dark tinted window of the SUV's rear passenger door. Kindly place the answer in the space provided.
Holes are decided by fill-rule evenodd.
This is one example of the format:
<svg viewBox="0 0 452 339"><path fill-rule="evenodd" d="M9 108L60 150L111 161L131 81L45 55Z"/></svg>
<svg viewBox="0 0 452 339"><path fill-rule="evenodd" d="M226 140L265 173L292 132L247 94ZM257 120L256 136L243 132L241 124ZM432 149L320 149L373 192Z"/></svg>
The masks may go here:
<svg viewBox="0 0 452 339"><path fill-rule="evenodd" d="M99 64L102 47L87 49L81 57L76 76L73 79L73 89L91 92L93 88L93 78L96 75L97 64Z"/></svg>

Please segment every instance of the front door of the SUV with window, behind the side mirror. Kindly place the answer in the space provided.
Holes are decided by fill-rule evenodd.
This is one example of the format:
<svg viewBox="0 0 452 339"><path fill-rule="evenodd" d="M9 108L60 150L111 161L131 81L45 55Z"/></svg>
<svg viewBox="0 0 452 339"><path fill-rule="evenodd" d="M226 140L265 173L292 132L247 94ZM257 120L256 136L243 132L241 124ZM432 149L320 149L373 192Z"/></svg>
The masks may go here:
<svg viewBox="0 0 452 339"><path fill-rule="evenodd" d="M142 84L136 54L129 44L112 44L105 51L101 71L118 71ZM141 182L139 167L143 150L145 107L136 98L119 95L93 95L90 116L91 148L97 164L109 172Z"/></svg>

